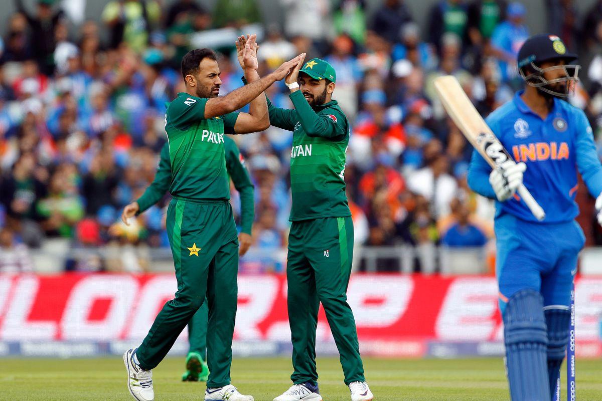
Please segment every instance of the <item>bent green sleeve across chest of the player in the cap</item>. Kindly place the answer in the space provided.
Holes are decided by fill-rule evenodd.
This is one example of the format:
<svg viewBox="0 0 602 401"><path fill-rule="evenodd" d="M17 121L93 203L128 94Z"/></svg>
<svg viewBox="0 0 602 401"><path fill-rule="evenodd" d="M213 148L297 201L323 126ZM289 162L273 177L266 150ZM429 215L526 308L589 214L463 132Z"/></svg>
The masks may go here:
<svg viewBox="0 0 602 401"><path fill-rule="evenodd" d="M297 110L297 116L301 127L307 136L331 139L340 141L347 135L346 118L337 109L328 108L324 114L317 114L309 106L301 91L293 92L289 95L293 105Z"/></svg>

